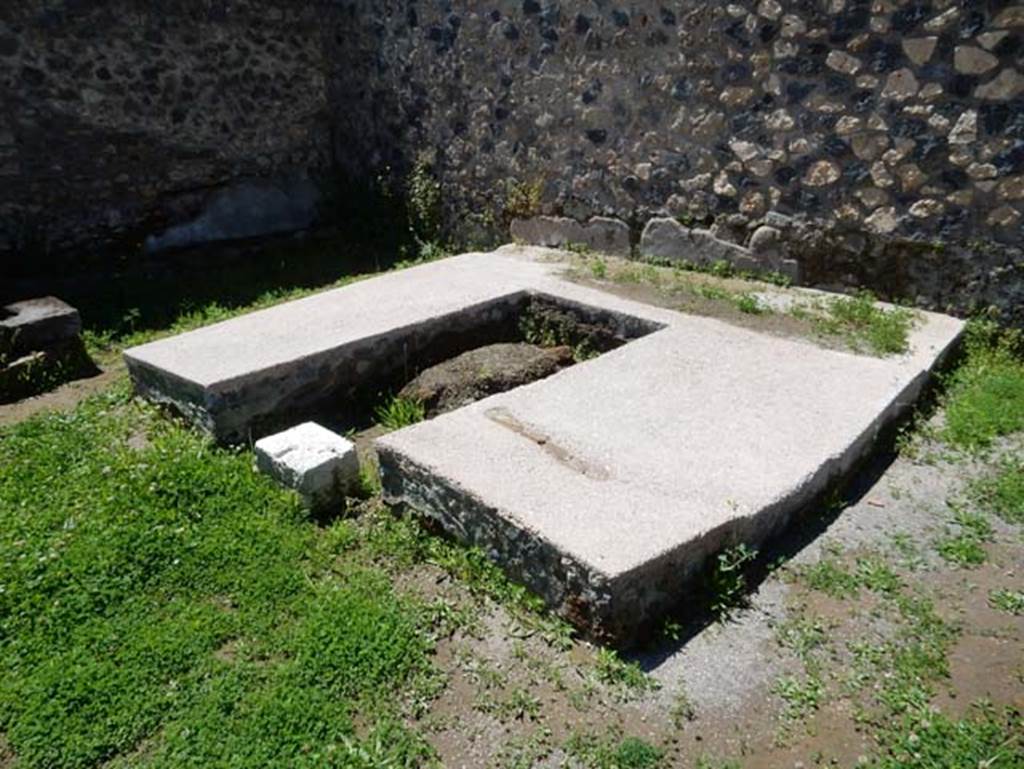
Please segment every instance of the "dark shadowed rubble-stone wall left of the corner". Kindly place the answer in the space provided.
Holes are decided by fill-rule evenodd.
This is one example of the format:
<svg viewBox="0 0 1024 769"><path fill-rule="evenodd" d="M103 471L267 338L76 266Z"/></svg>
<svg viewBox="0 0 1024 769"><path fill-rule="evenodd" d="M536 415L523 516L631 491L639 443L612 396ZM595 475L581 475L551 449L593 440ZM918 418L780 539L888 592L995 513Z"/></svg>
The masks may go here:
<svg viewBox="0 0 1024 769"><path fill-rule="evenodd" d="M225 184L325 167L322 11L0 3L0 274L130 248Z"/></svg>

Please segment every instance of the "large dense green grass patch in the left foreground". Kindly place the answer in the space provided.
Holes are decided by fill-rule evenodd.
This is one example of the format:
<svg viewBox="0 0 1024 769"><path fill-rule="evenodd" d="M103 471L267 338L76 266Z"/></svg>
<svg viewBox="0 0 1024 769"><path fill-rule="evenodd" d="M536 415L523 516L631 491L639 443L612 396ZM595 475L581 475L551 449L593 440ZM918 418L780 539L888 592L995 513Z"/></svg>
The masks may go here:
<svg viewBox="0 0 1024 769"><path fill-rule="evenodd" d="M126 386L0 431L10 750L48 767L429 763L400 724L433 685L432 615L352 547Z"/></svg>

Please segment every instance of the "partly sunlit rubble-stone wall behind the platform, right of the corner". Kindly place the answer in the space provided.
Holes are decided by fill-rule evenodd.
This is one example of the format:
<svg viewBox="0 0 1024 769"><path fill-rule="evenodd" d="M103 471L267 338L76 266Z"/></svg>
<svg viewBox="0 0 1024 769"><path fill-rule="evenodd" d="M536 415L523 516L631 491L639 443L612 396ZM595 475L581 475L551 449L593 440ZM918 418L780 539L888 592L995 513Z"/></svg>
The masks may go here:
<svg viewBox="0 0 1024 769"><path fill-rule="evenodd" d="M1024 305L1019 0L358 0L335 23L339 160L425 158L470 239L537 185L543 213L637 230L744 244L767 217L817 285Z"/></svg>

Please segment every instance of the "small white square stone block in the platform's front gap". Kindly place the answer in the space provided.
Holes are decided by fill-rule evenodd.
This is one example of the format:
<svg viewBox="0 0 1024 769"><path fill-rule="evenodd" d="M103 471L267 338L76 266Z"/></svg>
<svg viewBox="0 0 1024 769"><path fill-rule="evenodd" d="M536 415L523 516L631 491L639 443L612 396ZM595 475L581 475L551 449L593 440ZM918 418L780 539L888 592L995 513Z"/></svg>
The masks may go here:
<svg viewBox="0 0 1024 769"><path fill-rule="evenodd" d="M314 512L341 507L359 479L355 445L315 422L256 442L256 467L294 488Z"/></svg>

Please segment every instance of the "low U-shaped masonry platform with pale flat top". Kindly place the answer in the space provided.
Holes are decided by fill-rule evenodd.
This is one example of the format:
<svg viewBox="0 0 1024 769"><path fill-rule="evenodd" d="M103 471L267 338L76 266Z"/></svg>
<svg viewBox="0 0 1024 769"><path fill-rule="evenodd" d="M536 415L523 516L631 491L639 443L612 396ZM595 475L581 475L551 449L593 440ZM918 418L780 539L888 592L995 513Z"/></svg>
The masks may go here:
<svg viewBox="0 0 1024 769"><path fill-rule="evenodd" d="M756 547L910 409L963 324L872 357L621 298L505 247L128 350L138 390L222 441L501 336L544 297L627 344L377 441L385 498L479 546L592 637L629 642L723 547Z"/></svg>

